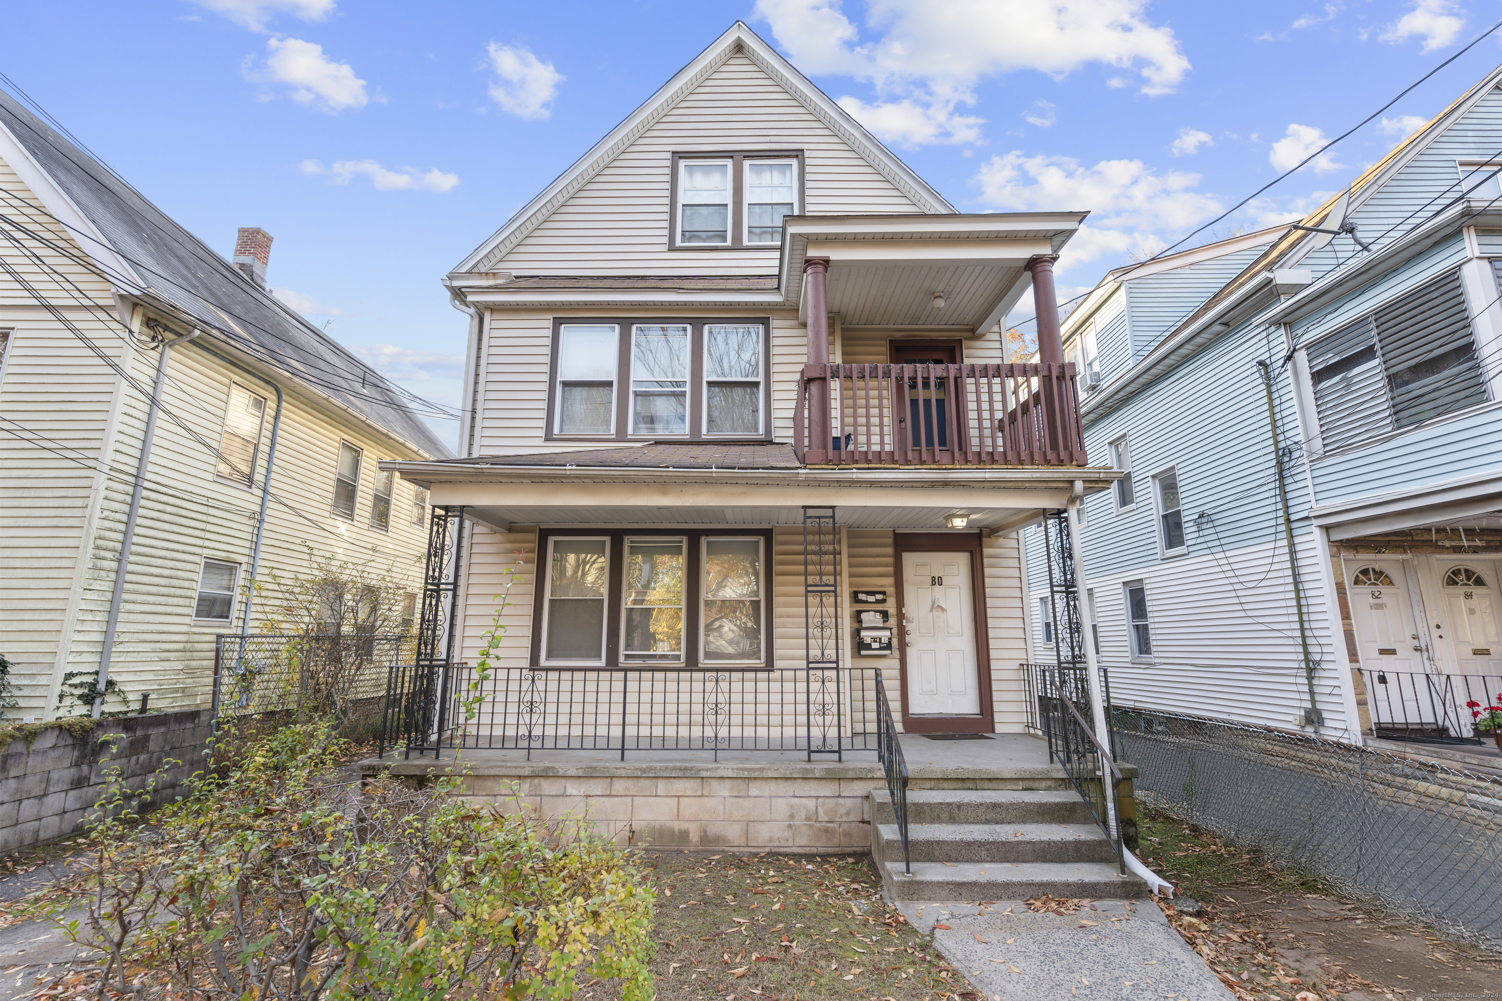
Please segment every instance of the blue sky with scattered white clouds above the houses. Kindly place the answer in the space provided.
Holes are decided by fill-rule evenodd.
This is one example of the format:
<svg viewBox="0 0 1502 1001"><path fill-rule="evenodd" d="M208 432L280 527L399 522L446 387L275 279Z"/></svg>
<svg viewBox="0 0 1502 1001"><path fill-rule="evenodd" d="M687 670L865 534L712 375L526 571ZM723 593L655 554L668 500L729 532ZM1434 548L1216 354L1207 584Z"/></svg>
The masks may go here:
<svg viewBox="0 0 1502 1001"><path fill-rule="evenodd" d="M961 210L1090 209L1066 299L1499 17L1479 0L53 0L8 11L0 68L219 252L266 228L278 294L454 404L466 326L439 279L737 18ZM1215 236L1317 204L1499 62L1482 42Z"/></svg>

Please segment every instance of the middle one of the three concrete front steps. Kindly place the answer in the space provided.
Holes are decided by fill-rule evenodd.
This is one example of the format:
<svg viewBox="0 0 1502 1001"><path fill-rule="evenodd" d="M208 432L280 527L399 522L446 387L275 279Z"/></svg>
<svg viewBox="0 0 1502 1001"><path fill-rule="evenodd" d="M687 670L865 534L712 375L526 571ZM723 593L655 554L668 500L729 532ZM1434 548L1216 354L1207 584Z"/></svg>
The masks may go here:
<svg viewBox="0 0 1502 1001"><path fill-rule="evenodd" d="M877 824L879 857L903 860L897 824ZM927 824L907 828L913 861L1114 861L1095 824Z"/></svg>

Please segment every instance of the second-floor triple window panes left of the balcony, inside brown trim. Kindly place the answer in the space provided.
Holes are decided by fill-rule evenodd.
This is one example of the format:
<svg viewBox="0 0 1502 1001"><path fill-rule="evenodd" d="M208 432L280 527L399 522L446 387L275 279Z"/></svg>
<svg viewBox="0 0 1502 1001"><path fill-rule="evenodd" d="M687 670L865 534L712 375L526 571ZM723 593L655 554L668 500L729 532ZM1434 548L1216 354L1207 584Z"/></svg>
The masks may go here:
<svg viewBox="0 0 1502 1001"><path fill-rule="evenodd" d="M548 437L765 438L768 329L765 320L560 323Z"/></svg>

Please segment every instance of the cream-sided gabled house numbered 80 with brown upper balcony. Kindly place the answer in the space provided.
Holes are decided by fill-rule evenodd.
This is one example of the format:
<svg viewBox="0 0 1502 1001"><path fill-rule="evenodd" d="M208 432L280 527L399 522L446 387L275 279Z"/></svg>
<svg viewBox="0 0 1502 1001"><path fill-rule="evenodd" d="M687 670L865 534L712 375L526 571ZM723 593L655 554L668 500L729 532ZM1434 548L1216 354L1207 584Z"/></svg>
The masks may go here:
<svg viewBox="0 0 1502 1001"><path fill-rule="evenodd" d="M467 522L454 660L514 579L478 740L837 753L876 668L1021 732L1017 530L1119 474L999 324L1083 218L957 212L743 24L694 59L445 279L461 456L382 462Z"/></svg>

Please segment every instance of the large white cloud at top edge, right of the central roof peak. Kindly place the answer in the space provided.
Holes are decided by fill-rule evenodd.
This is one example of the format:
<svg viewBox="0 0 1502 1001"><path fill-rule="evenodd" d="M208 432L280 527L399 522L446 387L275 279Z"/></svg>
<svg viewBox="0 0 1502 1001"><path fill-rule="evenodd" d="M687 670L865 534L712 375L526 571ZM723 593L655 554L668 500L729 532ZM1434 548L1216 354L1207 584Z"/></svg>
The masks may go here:
<svg viewBox="0 0 1502 1001"><path fill-rule="evenodd" d="M1032 69L1063 78L1092 63L1140 75L1142 92L1169 93L1190 62L1172 29L1145 17L1146 0L871 0L861 44L841 0L757 0L795 65L876 86L877 101L841 99L850 114L898 143L976 143L975 104L985 77ZM1128 86L1114 75L1108 86ZM1047 116L1039 116L1047 117Z"/></svg>

